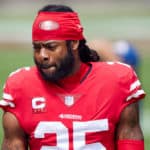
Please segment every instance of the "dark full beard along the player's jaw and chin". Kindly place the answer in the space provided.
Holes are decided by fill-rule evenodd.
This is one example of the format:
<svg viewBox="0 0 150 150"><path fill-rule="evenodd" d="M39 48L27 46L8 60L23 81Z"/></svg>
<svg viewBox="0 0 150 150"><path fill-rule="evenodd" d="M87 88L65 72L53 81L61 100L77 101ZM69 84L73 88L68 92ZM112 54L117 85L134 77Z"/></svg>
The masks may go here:
<svg viewBox="0 0 150 150"><path fill-rule="evenodd" d="M41 69L42 64L38 63L36 59L34 58L34 62L44 80L50 81L50 82L58 82L60 79L63 79L72 73L74 69L74 65L75 65L75 58L72 53L72 49L71 49L69 41L67 41L67 49L68 49L68 53L61 60L60 65L56 66L57 69L53 74L44 73Z"/></svg>

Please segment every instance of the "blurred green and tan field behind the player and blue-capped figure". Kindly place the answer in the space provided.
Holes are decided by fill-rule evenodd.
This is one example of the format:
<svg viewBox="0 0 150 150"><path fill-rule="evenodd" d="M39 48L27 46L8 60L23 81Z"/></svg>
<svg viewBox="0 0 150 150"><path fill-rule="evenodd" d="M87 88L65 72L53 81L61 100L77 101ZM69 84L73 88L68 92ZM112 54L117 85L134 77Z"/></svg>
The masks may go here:
<svg viewBox="0 0 150 150"><path fill-rule="evenodd" d="M142 109L145 149L150 150L150 2L148 0L0 0L0 94L10 72L33 65L31 26L36 12L45 4L71 6L79 13L88 40L126 39L141 55L140 79L147 96ZM0 116L1 116L0 111ZM1 120L0 120L1 121ZM0 143L2 142L0 123Z"/></svg>

